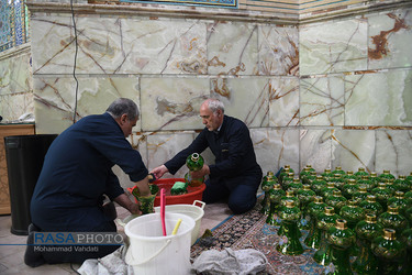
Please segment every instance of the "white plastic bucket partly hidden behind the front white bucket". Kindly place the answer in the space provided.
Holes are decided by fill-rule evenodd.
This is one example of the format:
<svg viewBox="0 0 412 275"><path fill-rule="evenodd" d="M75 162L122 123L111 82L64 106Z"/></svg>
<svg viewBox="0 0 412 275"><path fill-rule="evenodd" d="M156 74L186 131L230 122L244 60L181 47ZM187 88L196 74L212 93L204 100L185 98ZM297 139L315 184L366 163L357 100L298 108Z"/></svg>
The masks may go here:
<svg viewBox="0 0 412 275"><path fill-rule="evenodd" d="M194 200L193 205L170 205L165 207L166 212L187 215L194 220L194 229L191 232L191 245L196 243L199 237L200 224L204 215L204 205L203 201ZM159 213L160 207L155 207L155 212Z"/></svg>

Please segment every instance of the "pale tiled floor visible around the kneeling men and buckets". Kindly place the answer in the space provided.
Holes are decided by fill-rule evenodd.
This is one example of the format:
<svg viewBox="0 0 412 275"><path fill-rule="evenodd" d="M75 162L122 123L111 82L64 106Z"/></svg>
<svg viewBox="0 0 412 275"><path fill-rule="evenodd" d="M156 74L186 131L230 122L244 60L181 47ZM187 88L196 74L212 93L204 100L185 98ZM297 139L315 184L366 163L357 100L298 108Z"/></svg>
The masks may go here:
<svg viewBox="0 0 412 275"><path fill-rule="evenodd" d="M118 208L118 217L123 219L129 212L123 208ZM201 221L199 235L205 229L213 229L227 217L231 212L225 204L213 204L204 207L204 216ZM23 262L25 251L25 235L14 235L10 233L11 217L0 216L0 274L76 274L75 270L79 268L78 264L57 264L42 265L35 268L26 266ZM122 232L119 227L119 231Z"/></svg>

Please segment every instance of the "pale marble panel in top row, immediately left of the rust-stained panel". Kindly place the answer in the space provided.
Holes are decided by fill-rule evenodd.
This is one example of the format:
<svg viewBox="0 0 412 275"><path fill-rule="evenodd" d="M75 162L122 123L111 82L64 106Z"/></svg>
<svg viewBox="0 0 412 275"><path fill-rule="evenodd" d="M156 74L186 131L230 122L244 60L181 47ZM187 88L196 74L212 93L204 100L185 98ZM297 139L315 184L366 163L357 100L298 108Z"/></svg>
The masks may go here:
<svg viewBox="0 0 412 275"><path fill-rule="evenodd" d="M367 21L349 19L300 26L300 75L367 69Z"/></svg>

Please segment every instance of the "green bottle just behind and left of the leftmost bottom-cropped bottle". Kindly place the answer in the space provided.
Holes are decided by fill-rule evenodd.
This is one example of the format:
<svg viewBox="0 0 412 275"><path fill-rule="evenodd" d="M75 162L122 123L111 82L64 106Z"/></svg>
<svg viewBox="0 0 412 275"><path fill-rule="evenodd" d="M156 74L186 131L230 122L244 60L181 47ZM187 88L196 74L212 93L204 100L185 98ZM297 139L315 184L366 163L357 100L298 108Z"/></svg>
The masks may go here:
<svg viewBox="0 0 412 275"><path fill-rule="evenodd" d="M335 224L337 219L341 217L335 213L333 207L325 207L325 212L319 216L316 226L322 231L321 243L319 250L313 254L313 260L320 265L326 266L332 262L332 251L326 241L327 230Z"/></svg>

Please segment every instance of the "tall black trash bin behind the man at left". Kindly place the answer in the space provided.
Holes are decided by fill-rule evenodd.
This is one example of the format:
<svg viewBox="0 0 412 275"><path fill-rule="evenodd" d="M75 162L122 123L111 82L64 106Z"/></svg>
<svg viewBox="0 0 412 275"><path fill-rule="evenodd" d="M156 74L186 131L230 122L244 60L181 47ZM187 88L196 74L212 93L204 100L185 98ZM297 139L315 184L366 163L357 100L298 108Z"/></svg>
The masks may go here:
<svg viewBox="0 0 412 275"><path fill-rule="evenodd" d="M57 134L4 138L9 176L11 233L26 235L31 223L30 201L43 167L44 157Z"/></svg>

